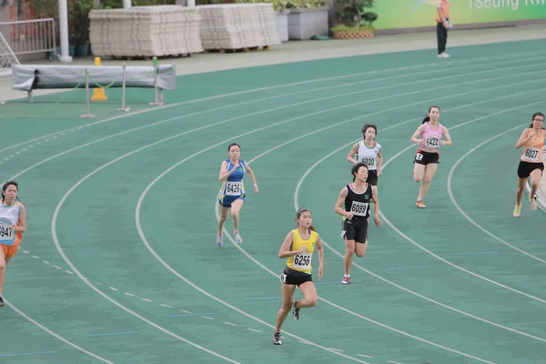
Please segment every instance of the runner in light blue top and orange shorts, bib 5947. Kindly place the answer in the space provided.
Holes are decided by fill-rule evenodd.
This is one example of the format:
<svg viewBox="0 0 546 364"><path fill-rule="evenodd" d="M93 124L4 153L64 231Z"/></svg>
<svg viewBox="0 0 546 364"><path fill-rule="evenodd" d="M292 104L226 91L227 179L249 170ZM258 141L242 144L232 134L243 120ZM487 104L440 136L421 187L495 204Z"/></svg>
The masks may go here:
<svg viewBox="0 0 546 364"><path fill-rule="evenodd" d="M26 231L25 207L16 200L18 190L17 182L5 182L0 200L0 308L5 305L2 296L5 267L15 257L22 234Z"/></svg>

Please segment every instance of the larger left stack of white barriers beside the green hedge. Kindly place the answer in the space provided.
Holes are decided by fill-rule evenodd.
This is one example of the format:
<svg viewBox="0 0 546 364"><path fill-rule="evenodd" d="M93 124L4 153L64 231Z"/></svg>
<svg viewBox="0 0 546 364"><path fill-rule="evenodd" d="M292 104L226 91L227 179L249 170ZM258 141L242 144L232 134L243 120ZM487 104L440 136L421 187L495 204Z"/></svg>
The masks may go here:
<svg viewBox="0 0 546 364"><path fill-rule="evenodd" d="M92 10L89 19L89 40L95 56L179 56L204 50L196 7Z"/></svg>

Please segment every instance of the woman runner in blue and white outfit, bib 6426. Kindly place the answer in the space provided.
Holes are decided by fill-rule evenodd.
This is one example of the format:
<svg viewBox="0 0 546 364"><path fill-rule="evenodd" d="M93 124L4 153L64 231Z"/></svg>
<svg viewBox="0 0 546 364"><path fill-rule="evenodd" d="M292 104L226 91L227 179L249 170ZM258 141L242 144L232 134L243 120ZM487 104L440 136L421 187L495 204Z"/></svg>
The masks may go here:
<svg viewBox="0 0 546 364"><path fill-rule="evenodd" d="M231 209L233 218L233 235L235 242L241 244L243 239L238 232L239 212L245 203L247 197L245 193L245 184L243 177L248 172L254 183L254 192L258 192L258 183L252 168L245 161L239 159L241 147L237 143L232 143L227 147L228 158L220 166L220 176L218 179L222 182L222 187L218 194L218 204L220 204L220 219L218 220L217 246L222 247L224 237L222 229L227 220L227 213Z"/></svg>

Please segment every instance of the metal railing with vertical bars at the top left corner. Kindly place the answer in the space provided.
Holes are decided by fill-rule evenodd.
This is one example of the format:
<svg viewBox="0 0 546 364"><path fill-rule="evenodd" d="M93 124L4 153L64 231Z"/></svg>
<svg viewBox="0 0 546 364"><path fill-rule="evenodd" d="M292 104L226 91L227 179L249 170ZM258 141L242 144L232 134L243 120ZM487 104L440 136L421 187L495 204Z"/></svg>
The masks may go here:
<svg viewBox="0 0 546 364"><path fill-rule="evenodd" d="M0 31L15 55L56 53L56 28L53 18L3 22L0 23Z"/></svg>

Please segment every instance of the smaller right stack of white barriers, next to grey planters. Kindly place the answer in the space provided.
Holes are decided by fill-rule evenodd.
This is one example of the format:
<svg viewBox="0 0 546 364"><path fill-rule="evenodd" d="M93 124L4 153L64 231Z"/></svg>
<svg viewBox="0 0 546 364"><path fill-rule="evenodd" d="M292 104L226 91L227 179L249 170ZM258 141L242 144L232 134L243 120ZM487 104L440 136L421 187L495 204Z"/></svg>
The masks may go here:
<svg viewBox="0 0 546 364"><path fill-rule="evenodd" d="M201 18L201 43L207 50L280 44L271 4L199 5L196 8Z"/></svg>

